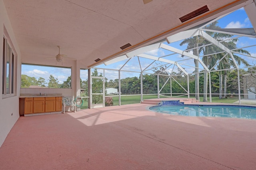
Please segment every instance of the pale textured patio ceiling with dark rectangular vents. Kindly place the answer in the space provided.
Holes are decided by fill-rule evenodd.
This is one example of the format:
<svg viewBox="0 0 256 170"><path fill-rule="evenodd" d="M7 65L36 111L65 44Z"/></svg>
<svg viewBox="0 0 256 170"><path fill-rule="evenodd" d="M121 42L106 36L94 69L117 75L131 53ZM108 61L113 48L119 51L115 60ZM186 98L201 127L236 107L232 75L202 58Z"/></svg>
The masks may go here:
<svg viewBox="0 0 256 170"><path fill-rule="evenodd" d="M142 0L3 1L22 62L53 65L54 58L45 58L57 55L60 45L61 54L88 67L97 58L106 61L120 55L120 47L127 43L132 45L130 50L136 49L160 40L173 28L189 26L191 21L182 24L179 18L202 6L208 6L211 16L227 4L231 3L230 8L246 0L153 0L148 4Z"/></svg>

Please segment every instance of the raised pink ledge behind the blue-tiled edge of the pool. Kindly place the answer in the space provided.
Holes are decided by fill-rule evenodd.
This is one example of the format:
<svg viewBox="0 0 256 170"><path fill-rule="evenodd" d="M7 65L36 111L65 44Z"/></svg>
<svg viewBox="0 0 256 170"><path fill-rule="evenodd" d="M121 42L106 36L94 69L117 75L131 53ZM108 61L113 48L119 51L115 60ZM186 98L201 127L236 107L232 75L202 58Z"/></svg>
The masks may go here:
<svg viewBox="0 0 256 170"><path fill-rule="evenodd" d="M148 105L158 105L158 103L161 103L161 101L177 101L180 100L180 102L184 102L185 105L191 104L191 103L197 103L198 100L192 98L192 99L184 99L184 98L162 98L162 99L145 99L141 104L148 104Z"/></svg>

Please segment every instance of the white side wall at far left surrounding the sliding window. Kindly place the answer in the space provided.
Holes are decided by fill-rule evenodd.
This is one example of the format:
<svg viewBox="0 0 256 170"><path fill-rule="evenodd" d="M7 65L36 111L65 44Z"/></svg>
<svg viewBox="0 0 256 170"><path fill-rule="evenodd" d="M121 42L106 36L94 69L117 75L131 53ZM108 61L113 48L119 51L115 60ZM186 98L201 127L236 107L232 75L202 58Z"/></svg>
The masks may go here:
<svg viewBox="0 0 256 170"><path fill-rule="evenodd" d="M4 37L4 26L10 36L14 49L17 53L17 68L16 68L16 95L14 97L8 97L3 99L0 97L0 146L2 146L6 136L10 132L19 118L19 95L20 95L20 69L21 69L21 55L18 43L14 36L10 20L8 18L4 3L0 0L0 91L2 94L2 53L3 53L3 37ZM12 115L13 114L13 115Z"/></svg>

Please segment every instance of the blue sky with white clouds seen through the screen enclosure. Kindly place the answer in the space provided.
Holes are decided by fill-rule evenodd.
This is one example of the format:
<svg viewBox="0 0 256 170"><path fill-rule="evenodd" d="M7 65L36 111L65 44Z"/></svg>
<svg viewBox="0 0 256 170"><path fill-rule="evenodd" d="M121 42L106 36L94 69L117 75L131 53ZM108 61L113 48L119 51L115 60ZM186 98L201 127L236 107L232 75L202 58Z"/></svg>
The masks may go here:
<svg viewBox="0 0 256 170"><path fill-rule="evenodd" d="M246 15L246 12L244 8L240 8L239 10L236 10L235 12L232 12L231 14L225 16L224 18L221 18L218 20L218 26L221 28L252 28L252 24L250 23L250 20L248 16ZM238 42L236 43L236 46L239 47L244 47L244 46L249 46L249 45L254 45L256 44L256 38L247 38L247 37L242 37L238 38ZM171 45L173 47L176 47L178 49L186 49L187 45L180 46L180 42L174 42ZM167 44L167 43L166 43ZM247 51L250 52L250 54L254 57L256 57L256 48L255 47L250 47L246 48ZM165 50L165 49L156 49L153 51L148 51L147 54L160 57L160 56L165 56L169 55L172 52ZM256 63L255 59L252 57L246 57L244 55L240 56L244 59L246 59L251 65L254 65ZM186 59L188 57L181 57L179 54L175 55L170 55L166 57L166 59L170 59L172 61L178 61L182 59ZM105 66L104 64L97 66L98 68L108 68L108 69L120 69L125 63L127 59L124 61L119 61L117 63L113 63L110 65ZM148 59L143 59L140 58L140 61L138 60L138 57L133 57L130 59L128 63L122 68L121 71L121 79L125 77L138 77L140 73L134 73L134 72L128 72L128 71L140 71L140 65L141 69L145 69L148 67L149 64L151 64L153 60L148 60ZM140 64L139 64L140 63ZM192 73L194 71L194 67L188 67L186 65L193 65L194 61L193 59L185 60L185 61L180 61L180 63L184 64L181 65L182 67L185 68L185 70L189 73ZM154 62L152 66L156 66L158 64L161 64L160 62ZM202 66L200 66L202 68ZM173 68L173 66L168 67L169 71L177 71L176 67ZM153 73L152 70L148 70L148 73ZM98 69L98 73L103 74L102 69ZM59 83L63 83L63 81L66 81L68 76L71 75L71 69L70 68L60 68L60 67L42 67L42 66L35 66L35 65L22 65L22 74L28 75L30 77L36 77L37 79L39 77L43 77L47 82L49 79L49 75L52 74L55 78L58 79ZM114 80L118 79L118 71L112 71L112 70L105 70L105 77L107 77L108 80ZM80 78L82 80L86 80L88 78L88 72L87 70L81 70L80 71Z"/></svg>

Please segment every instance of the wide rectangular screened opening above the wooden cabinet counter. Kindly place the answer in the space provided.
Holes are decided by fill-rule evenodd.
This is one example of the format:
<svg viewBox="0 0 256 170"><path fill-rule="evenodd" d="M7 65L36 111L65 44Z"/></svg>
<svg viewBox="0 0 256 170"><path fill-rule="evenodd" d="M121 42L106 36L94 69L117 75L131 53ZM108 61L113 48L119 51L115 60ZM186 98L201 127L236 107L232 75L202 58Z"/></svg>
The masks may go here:
<svg viewBox="0 0 256 170"><path fill-rule="evenodd" d="M71 68L48 65L21 65L21 88L71 89Z"/></svg>

